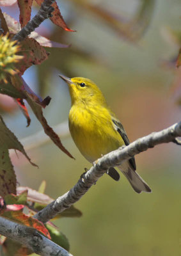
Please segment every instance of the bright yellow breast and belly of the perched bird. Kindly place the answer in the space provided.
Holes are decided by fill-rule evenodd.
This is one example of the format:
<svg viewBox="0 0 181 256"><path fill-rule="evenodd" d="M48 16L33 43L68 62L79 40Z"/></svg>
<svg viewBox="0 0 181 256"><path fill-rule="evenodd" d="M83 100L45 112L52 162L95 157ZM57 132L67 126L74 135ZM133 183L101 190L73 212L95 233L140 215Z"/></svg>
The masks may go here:
<svg viewBox="0 0 181 256"><path fill-rule="evenodd" d="M73 105L69 113L69 129L75 145L91 163L124 145L113 127L109 110L104 107Z"/></svg>

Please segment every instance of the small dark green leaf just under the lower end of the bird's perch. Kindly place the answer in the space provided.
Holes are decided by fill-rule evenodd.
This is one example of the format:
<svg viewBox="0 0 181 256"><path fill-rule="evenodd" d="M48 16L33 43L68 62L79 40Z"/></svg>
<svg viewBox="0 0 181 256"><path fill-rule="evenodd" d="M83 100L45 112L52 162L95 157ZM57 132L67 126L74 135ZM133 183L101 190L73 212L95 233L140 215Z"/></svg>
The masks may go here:
<svg viewBox="0 0 181 256"><path fill-rule="evenodd" d="M45 227L47 228L47 230L49 230L49 233L51 235L51 239L54 243L63 247L67 251L70 250L70 244L68 242L68 239L62 232L60 232L55 227L52 227L49 224L46 224Z"/></svg>

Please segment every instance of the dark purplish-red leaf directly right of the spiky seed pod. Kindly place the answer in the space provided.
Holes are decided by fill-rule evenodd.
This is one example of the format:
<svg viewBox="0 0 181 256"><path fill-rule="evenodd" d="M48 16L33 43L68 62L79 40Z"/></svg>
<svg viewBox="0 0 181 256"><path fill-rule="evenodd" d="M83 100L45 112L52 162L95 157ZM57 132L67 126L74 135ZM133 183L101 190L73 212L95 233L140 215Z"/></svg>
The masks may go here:
<svg viewBox="0 0 181 256"><path fill-rule="evenodd" d="M29 37L21 42L19 54L24 56L23 60L16 65L20 75L24 74L24 71L32 65L41 64L49 56L48 52L35 39Z"/></svg>

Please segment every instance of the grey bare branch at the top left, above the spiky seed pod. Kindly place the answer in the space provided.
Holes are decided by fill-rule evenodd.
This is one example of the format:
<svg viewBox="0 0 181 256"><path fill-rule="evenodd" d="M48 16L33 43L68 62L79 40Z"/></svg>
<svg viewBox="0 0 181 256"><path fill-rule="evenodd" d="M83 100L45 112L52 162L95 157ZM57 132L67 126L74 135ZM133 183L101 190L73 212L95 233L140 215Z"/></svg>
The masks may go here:
<svg viewBox="0 0 181 256"><path fill-rule="evenodd" d="M53 2L54 0L44 0L35 17L33 17L33 19L31 19L26 26L24 26L15 36L13 36L13 40L24 40L24 38L30 35L35 28L38 28L45 19L52 17L51 13L54 11L54 8L51 6L51 4Z"/></svg>

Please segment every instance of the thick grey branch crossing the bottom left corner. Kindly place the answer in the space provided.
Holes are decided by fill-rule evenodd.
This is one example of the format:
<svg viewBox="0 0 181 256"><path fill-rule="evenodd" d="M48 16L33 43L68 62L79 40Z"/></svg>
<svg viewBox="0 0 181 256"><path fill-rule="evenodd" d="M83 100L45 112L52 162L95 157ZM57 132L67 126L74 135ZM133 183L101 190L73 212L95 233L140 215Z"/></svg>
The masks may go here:
<svg viewBox="0 0 181 256"><path fill-rule="evenodd" d="M19 225L2 217L0 217L0 234L26 245L38 255L72 256L61 246L42 236L35 228Z"/></svg>

